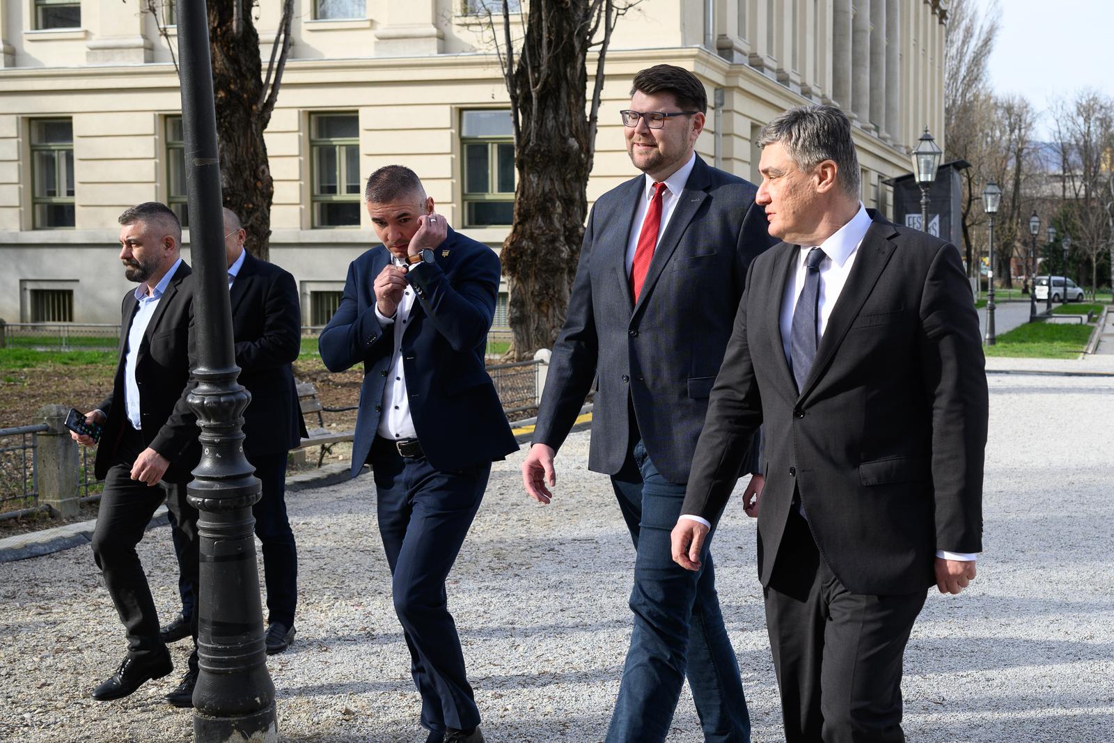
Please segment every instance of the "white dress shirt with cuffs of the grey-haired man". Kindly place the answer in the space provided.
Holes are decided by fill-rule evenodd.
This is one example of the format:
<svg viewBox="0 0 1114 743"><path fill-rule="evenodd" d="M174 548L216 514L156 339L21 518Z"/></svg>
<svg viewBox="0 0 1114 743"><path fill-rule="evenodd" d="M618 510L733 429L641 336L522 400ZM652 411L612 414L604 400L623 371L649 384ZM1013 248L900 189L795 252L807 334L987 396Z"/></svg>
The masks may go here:
<svg viewBox="0 0 1114 743"><path fill-rule="evenodd" d="M798 248L792 281L785 282L785 289L781 297L779 322L781 325L781 344L785 351L785 359L790 358L789 343L793 329L793 311L797 309L797 300L801 296L801 290L804 289L804 277L808 273L805 258L808 258L809 251L813 247L819 247L824 252L824 258L820 262L820 293L817 297L817 343L819 344L820 339L823 338L824 330L828 327L828 320L832 316L836 302L839 300L839 295L847 284L851 266L854 265L856 255L859 253L859 245L862 244L862 238L867 236L867 231L870 229L870 215L867 214L866 207L860 202L859 211L851 217L851 221L837 229L828 239L820 243L820 245L801 245ZM712 526L706 519L696 516L682 518L701 521L709 528ZM948 553L942 549L936 550L936 556L948 560L974 560L977 557L968 553Z"/></svg>

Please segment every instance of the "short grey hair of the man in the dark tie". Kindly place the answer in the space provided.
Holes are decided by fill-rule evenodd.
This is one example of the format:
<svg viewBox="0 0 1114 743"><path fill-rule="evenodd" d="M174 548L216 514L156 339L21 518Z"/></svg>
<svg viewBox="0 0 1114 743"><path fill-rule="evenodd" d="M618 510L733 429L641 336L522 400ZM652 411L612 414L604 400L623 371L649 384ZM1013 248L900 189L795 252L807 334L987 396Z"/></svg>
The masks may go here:
<svg viewBox="0 0 1114 743"><path fill-rule="evenodd" d="M843 192L859 198L859 157L851 138L851 123L834 106L791 108L762 127L759 147L780 141L801 170L824 160L836 163Z"/></svg>

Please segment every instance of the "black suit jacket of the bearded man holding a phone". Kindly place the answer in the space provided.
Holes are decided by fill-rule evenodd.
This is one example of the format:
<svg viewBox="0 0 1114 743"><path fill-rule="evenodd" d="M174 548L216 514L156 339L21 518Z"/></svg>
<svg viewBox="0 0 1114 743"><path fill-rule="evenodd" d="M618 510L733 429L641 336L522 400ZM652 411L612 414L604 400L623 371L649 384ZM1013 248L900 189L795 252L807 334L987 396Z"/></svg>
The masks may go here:
<svg viewBox="0 0 1114 743"><path fill-rule="evenodd" d="M175 271L166 292L155 307L144 332L136 359L136 383L139 388L140 434L144 444L170 461L163 479L185 482L201 459L197 443L197 417L189 410L186 395L195 387L189 371L194 366L190 353L193 333L193 281L185 261ZM113 391L98 405L108 417L101 431L94 471L98 480L117 463L119 443L127 421L124 392L124 366L128 350L128 332L138 301L135 290L124 295L120 306L120 346Z"/></svg>

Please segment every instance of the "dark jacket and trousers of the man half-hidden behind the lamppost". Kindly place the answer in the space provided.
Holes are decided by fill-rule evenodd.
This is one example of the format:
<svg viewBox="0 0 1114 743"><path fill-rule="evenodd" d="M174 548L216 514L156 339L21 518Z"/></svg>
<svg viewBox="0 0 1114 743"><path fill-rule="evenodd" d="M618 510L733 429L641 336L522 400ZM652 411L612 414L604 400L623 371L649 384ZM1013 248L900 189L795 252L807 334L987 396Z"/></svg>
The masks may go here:
<svg viewBox="0 0 1114 743"><path fill-rule="evenodd" d="M302 343L297 285L287 271L245 253L229 300L237 381L252 393L244 410L244 453L262 486L252 515L255 536L263 544L267 623L292 627L297 548L286 517L286 456L305 434L291 369ZM192 607L185 590L183 614L190 616Z"/></svg>

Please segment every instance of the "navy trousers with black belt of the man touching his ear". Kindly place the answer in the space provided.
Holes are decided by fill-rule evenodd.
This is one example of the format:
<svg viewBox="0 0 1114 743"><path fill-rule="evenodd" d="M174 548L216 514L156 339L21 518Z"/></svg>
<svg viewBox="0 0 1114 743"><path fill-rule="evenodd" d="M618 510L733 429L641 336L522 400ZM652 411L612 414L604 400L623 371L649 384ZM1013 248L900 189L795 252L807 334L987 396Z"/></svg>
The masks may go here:
<svg viewBox="0 0 1114 743"><path fill-rule="evenodd" d="M444 580L479 510L491 462L437 470L424 457L400 457L379 438L369 461L394 613L421 694L421 724L433 732L476 727L480 713L449 614Z"/></svg>

